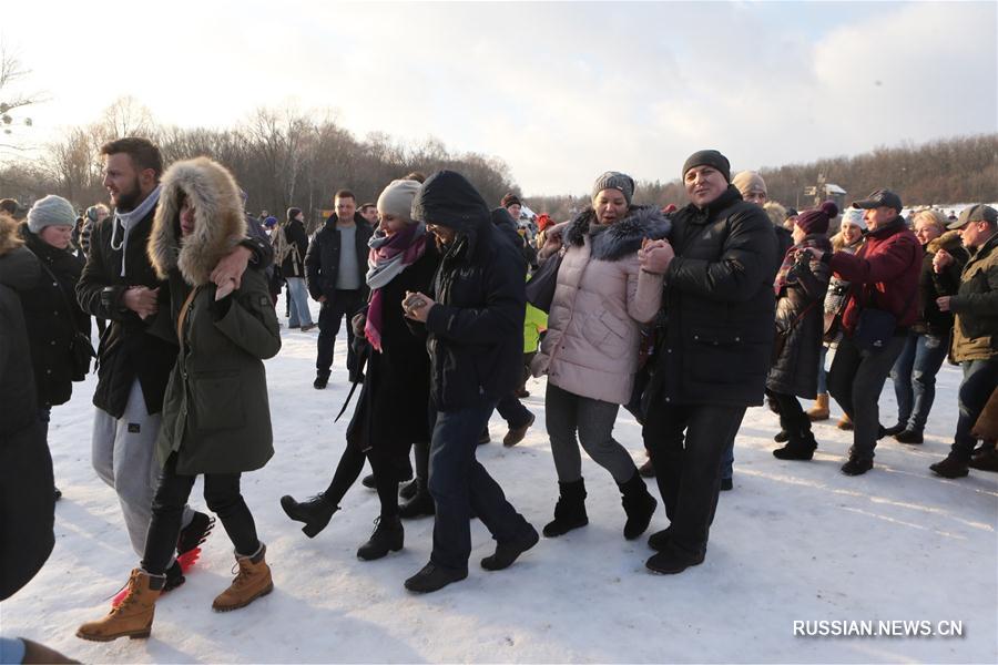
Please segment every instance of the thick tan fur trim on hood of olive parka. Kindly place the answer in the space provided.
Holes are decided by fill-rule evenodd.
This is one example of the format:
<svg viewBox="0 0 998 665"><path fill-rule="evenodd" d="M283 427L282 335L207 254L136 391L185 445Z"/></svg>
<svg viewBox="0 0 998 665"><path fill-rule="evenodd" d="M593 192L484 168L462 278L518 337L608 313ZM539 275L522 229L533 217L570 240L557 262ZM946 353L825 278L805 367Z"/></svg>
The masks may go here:
<svg viewBox="0 0 998 665"><path fill-rule="evenodd" d="M191 286L207 284L218 259L246 237L246 219L235 178L224 166L196 157L177 162L163 174L153 219L149 258L161 279L180 269ZM194 205L194 232L181 237L182 195Z"/></svg>

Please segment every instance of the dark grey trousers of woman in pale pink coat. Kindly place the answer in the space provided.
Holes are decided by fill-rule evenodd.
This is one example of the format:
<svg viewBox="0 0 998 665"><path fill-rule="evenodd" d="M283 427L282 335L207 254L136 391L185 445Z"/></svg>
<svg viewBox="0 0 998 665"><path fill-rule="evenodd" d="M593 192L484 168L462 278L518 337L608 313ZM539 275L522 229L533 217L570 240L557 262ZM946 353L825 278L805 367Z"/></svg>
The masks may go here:
<svg viewBox="0 0 998 665"><path fill-rule="evenodd" d="M609 471L617 484L634 477L638 471L634 460L612 436L619 410L620 405L582 397L548 381L544 422L560 482L574 482L582 478L580 442L592 461ZM579 433L578 441L576 432Z"/></svg>

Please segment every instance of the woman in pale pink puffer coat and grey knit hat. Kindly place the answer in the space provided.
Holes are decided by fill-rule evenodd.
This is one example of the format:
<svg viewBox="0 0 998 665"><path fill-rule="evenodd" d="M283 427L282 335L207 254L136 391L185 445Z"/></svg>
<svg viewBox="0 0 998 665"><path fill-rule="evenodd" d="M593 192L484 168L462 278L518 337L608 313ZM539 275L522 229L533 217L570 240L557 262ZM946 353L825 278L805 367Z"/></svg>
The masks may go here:
<svg viewBox="0 0 998 665"><path fill-rule="evenodd" d="M612 437L620 405L631 398L641 325L662 300L662 275L642 270L638 250L671 229L656 207L632 205L633 193L630 176L604 173L593 184L592 207L550 229L542 252L557 245L563 252L548 334L531 364L534 376L548 375L544 408L560 490L554 521L544 526L549 538L589 521L577 432L620 487L625 538L641 535L655 509L630 453Z"/></svg>

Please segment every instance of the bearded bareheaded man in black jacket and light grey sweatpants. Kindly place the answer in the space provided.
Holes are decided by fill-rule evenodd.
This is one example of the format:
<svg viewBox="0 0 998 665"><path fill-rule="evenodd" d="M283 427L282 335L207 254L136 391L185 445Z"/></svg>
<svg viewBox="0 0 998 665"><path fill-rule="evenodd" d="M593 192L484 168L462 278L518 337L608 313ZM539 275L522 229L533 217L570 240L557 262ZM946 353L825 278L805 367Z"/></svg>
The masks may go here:
<svg viewBox="0 0 998 665"><path fill-rule="evenodd" d="M141 556L160 474L155 441L163 396L177 352L170 331L160 331L171 325L170 296L146 255L163 160L159 147L141 137L106 143L101 155L114 214L94 224L77 285L83 310L111 321L99 349L92 456L98 475L118 493L132 549ZM269 244L244 239L223 258L212 273L220 293L238 287L251 257L257 265L269 263ZM193 551L214 520L185 508L183 523L177 554ZM183 581L180 563L172 562L166 587Z"/></svg>

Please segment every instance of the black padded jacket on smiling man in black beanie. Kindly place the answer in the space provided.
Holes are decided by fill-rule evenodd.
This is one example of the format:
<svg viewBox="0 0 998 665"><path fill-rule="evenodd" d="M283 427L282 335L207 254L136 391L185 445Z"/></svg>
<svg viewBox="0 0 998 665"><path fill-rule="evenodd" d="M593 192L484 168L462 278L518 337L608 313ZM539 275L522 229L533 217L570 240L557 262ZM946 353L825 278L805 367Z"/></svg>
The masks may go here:
<svg viewBox="0 0 998 665"><path fill-rule="evenodd" d="M760 405L773 347L773 223L733 186L671 218L676 256L665 273L651 403Z"/></svg>

